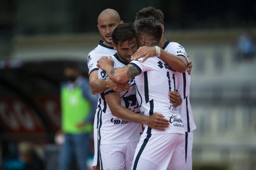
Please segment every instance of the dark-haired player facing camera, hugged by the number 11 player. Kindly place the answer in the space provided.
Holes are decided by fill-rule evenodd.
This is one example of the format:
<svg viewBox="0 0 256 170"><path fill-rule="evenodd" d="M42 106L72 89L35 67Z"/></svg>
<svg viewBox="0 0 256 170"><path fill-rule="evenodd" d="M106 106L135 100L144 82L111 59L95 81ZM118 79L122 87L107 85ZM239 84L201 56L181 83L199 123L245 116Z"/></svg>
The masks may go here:
<svg viewBox="0 0 256 170"><path fill-rule="evenodd" d="M131 55L137 50L133 25L120 24L113 31L112 39L113 48L117 51L112 56L114 67L123 67L131 62ZM101 69L98 74L99 79L108 78L106 72ZM161 114L156 113L151 116L139 114L140 107L136 99L137 88L134 78L127 82L131 84L130 91L116 92L107 89L104 96L101 96L102 112L99 116L98 134L100 165L103 170L131 170L135 148L143 131L141 123L159 130L165 130L163 127L169 125L169 121L163 119Z"/></svg>

